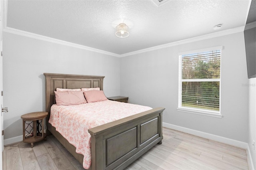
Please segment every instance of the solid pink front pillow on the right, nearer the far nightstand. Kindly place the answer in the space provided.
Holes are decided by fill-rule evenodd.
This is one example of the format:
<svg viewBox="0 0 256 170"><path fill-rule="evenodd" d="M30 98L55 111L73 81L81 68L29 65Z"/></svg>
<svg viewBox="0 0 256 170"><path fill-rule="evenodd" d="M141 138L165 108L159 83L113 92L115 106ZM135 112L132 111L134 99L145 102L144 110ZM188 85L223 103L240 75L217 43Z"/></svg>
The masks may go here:
<svg viewBox="0 0 256 170"><path fill-rule="evenodd" d="M102 90L84 91L84 97L88 103L108 100Z"/></svg>

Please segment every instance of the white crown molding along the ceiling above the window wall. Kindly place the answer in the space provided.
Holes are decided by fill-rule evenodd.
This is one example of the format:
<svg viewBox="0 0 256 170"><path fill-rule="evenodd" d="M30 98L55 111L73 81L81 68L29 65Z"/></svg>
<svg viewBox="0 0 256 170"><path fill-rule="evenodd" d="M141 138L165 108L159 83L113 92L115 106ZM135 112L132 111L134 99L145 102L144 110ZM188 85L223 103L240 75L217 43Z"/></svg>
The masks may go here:
<svg viewBox="0 0 256 170"><path fill-rule="evenodd" d="M157 46L150 47L150 48L140 49L138 51L133 51L133 52L130 52L130 53L124 53L124 54L121 54L120 57L126 57L126 56L135 55L135 54L139 54L139 53L144 53L144 52L148 52L148 51L154 51L154 50L157 50L157 49L173 47L173 46L181 45L181 44L185 44L185 43L197 42L197 41L200 41L200 40L206 40L206 39L210 39L210 38L226 36L226 35L229 35L229 34L234 34L234 33L243 32L243 31L244 31L244 26L240 26L240 27L231 28L231 29L228 29L228 30L222 30L222 31L218 31L218 32L210 33L210 34L205 34L205 35L202 35L202 36L188 38L188 39L185 39L185 40L180 40L180 41L176 41L176 42L166 43L166 44L163 44L163 45L157 45Z"/></svg>

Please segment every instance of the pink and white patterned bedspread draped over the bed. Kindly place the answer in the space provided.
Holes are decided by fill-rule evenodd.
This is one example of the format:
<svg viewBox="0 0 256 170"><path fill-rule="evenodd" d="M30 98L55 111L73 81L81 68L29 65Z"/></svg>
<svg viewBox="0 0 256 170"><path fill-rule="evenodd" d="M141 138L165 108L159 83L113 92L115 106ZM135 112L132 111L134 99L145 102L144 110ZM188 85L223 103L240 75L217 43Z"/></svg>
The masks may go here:
<svg viewBox="0 0 256 170"><path fill-rule="evenodd" d="M52 105L49 123L76 147L77 153L84 155L83 167L88 169L91 164L89 128L150 109L152 108L110 100L71 106Z"/></svg>

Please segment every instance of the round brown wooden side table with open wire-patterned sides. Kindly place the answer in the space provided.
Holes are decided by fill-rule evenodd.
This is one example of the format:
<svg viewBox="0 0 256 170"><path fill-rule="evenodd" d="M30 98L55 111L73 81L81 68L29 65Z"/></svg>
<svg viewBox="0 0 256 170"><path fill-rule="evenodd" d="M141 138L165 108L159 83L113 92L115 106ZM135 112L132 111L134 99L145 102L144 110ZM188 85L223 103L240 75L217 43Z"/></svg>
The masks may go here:
<svg viewBox="0 0 256 170"><path fill-rule="evenodd" d="M23 142L31 143L31 147L33 147L34 142L46 138L44 118L47 115L48 112L33 112L21 116L23 121Z"/></svg>

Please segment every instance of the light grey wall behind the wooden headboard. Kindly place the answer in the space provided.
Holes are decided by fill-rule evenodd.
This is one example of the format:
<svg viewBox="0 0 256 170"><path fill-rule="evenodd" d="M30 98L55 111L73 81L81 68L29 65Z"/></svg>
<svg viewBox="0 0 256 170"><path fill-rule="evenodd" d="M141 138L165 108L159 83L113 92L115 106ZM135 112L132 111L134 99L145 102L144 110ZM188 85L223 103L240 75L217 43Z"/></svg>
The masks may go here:
<svg viewBox="0 0 256 170"><path fill-rule="evenodd" d="M101 75L106 96L120 95L120 58L3 33L4 138L22 135L21 115L45 111L43 73Z"/></svg>

